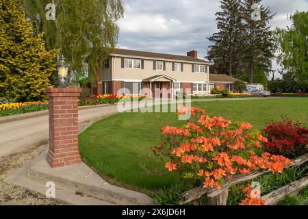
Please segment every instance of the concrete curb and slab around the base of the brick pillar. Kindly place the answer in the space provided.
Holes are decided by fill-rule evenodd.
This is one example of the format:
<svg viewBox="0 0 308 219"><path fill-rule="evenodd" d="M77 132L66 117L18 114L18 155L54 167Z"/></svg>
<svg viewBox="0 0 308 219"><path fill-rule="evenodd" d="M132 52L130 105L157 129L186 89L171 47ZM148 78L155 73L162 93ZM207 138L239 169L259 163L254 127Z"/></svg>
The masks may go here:
<svg viewBox="0 0 308 219"><path fill-rule="evenodd" d="M110 185L86 164L53 169L46 156L47 151L38 155L5 182L45 194L45 183L52 181L56 197L69 205L153 205L149 196Z"/></svg>

